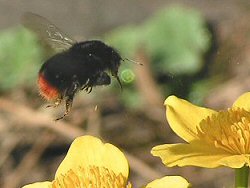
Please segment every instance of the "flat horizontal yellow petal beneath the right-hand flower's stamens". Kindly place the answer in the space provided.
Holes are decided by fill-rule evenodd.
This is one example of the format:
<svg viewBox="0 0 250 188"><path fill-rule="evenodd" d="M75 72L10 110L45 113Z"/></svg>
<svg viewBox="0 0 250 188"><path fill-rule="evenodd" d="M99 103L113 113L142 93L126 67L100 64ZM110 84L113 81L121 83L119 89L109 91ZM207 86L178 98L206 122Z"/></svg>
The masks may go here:
<svg viewBox="0 0 250 188"><path fill-rule="evenodd" d="M232 157L231 153L199 141L191 142L190 144L159 145L154 147L151 153L160 157L162 162L168 167L199 166L215 168L228 166L239 168L248 162L245 156L235 155L235 157Z"/></svg>

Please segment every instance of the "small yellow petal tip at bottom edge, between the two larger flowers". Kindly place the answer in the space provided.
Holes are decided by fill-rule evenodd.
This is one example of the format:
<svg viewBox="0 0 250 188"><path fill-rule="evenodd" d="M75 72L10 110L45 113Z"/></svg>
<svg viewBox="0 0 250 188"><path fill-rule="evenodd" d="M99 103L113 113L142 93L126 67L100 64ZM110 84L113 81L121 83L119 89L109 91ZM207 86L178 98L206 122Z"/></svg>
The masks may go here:
<svg viewBox="0 0 250 188"><path fill-rule="evenodd" d="M161 179L156 179L149 183L146 188L188 188L190 184L181 176L165 176Z"/></svg>

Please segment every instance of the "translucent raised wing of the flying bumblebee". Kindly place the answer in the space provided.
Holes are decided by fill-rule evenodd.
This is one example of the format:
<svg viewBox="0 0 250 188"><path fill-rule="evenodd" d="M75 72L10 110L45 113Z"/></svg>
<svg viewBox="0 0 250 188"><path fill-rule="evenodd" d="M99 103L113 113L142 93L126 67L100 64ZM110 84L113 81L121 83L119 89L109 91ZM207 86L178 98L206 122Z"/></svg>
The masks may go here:
<svg viewBox="0 0 250 188"><path fill-rule="evenodd" d="M24 13L22 24L35 32L42 41L57 52L67 50L76 43L74 39L63 33L49 20L37 14L31 12Z"/></svg>

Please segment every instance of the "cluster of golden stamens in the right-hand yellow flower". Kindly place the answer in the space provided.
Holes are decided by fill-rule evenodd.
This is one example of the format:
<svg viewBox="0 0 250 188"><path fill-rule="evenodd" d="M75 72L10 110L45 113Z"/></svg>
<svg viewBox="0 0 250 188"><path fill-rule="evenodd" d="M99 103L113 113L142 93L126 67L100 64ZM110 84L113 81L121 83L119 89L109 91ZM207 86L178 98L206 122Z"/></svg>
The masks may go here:
<svg viewBox="0 0 250 188"><path fill-rule="evenodd" d="M230 108L203 119L198 137L233 154L250 153L250 112Z"/></svg>

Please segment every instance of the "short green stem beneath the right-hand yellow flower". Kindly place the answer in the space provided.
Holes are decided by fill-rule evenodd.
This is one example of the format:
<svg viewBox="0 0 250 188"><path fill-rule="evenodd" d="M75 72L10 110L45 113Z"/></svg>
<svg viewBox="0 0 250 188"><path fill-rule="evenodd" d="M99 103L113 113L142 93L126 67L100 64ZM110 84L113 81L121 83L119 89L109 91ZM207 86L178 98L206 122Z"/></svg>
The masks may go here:
<svg viewBox="0 0 250 188"><path fill-rule="evenodd" d="M235 169L235 188L248 187L248 172L248 166L243 166L242 168Z"/></svg>

